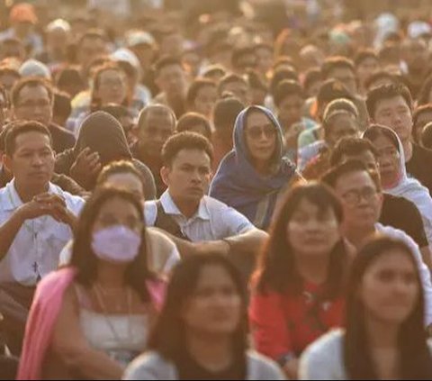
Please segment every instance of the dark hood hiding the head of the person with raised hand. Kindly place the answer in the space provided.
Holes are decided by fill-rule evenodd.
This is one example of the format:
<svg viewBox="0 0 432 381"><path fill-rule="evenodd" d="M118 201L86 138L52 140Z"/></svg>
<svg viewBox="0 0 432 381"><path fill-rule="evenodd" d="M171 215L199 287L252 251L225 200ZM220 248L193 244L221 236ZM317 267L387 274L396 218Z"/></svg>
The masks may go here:
<svg viewBox="0 0 432 381"><path fill-rule="evenodd" d="M75 157L87 147L99 153L103 167L112 161L132 159L120 122L103 111L91 113L81 124L74 148Z"/></svg>

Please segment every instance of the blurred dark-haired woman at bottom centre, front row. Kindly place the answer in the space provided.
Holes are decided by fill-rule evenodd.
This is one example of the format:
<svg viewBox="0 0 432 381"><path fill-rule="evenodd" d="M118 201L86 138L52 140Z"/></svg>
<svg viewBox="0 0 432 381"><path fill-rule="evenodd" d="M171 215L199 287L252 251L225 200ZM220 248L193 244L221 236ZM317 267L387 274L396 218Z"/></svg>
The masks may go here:
<svg viewBox="0 0 432 381"><path fill-rule="evenodd" d="M243 288L229 259L212 254L184 259L150 335L150 352L123 379L284 379L274 363L247 350Z"/></svg>

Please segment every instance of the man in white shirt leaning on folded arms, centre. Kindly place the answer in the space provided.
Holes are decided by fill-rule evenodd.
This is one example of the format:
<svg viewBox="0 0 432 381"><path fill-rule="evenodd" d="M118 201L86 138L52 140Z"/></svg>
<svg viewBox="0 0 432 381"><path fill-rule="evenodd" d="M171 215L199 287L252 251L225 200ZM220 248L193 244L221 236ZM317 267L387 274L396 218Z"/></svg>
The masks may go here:
<svg viewBox="0 0 432 381"><path fill-rule="evenodd" d="M193 252L254 253L267 234L245 216L207 196L211 143L193 132L171 137L162 150L161 177L168 189L145 205L148 226L166 231L181 255ZM193 243L191 243L193 242Z"/></svg>

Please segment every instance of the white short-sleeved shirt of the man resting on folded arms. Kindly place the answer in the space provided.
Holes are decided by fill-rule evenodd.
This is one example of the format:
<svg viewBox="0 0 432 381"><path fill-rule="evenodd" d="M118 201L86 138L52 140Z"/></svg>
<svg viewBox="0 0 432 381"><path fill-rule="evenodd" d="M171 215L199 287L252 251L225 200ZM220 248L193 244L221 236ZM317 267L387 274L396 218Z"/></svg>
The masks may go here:
<svg viewBox="0 0 432 381"><path fill-rule="evenodd" d="M165 213L177 222L184 236L193 242L223 240L255 229L243 214L207 195L202 197L197 212L191 218L180 212L168 190L161 195L160 203ZM146 202L144 212L147 225L154 226L157 203Z"/></svg>

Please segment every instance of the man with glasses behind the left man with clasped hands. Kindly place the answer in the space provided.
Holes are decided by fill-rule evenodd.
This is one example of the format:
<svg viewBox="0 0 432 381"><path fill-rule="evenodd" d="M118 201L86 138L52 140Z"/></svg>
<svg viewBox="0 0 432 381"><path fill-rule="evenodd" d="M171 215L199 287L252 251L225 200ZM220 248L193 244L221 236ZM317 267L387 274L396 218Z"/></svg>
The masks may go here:
<svg viewBox="0 0 432 381"><path fill-rule="evenodd" d="M11 102L14 120L40 122L48 127L57 154L74 147L75 136L52 122L54 94L49 82L42 78L23 78L14 86Z"/></svg>

